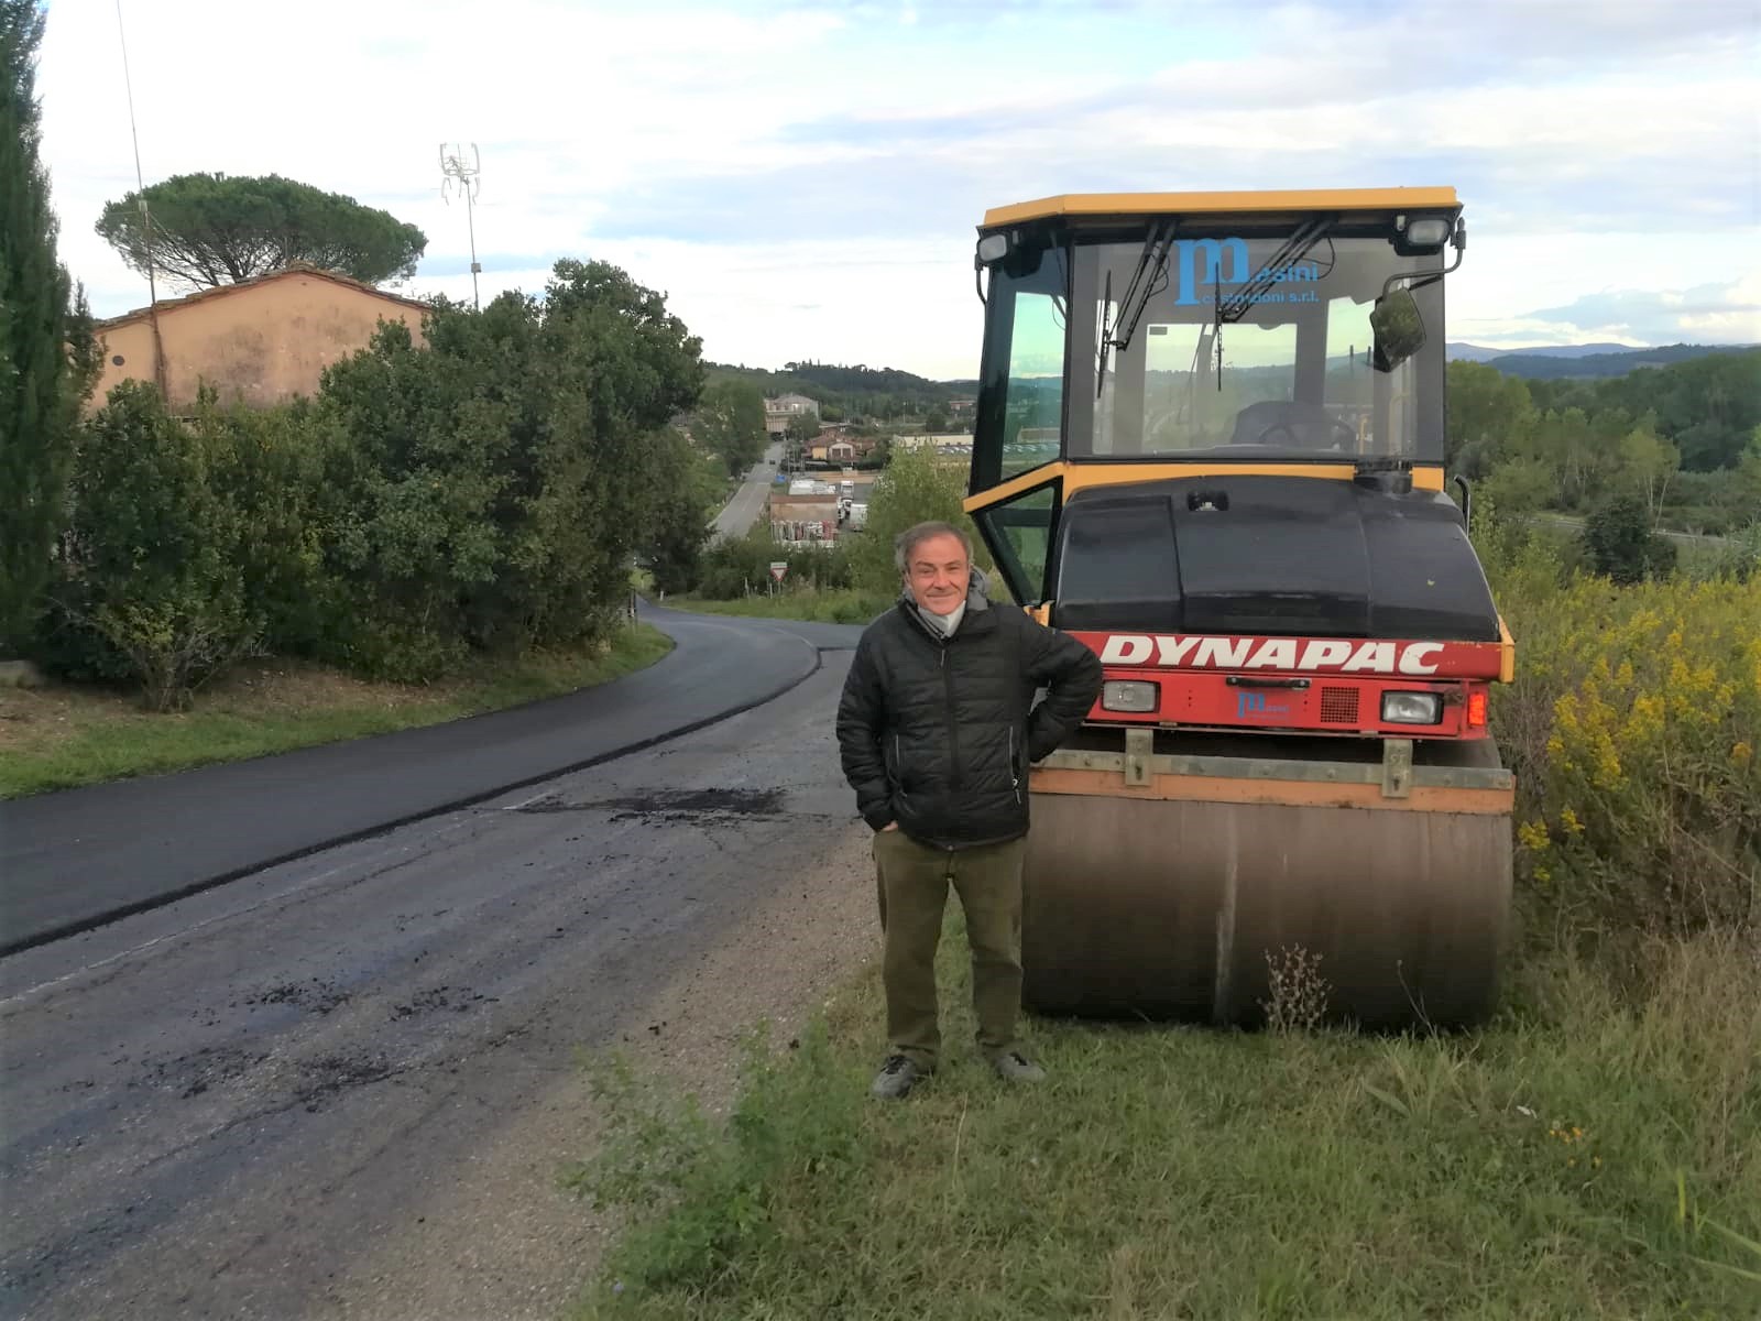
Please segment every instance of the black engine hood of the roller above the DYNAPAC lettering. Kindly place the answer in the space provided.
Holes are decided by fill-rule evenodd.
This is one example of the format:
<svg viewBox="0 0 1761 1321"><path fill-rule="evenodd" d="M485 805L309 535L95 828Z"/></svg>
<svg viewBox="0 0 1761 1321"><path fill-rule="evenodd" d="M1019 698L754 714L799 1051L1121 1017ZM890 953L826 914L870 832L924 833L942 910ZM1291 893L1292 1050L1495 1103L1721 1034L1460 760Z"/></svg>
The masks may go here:
<svg viewBox="0 0 1761 1321"><path fill-rule="evenodd" d="M1323 477L1176 477L1078 491L1053 625L1497 641L1462 511L1440 491Z"/></svg>

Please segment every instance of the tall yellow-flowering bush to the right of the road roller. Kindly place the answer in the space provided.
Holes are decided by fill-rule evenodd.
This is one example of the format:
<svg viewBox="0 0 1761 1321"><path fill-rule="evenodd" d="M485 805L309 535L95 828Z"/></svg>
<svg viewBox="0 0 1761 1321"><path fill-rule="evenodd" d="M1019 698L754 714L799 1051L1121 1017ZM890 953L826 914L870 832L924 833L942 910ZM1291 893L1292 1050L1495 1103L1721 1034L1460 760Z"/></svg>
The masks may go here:
<svg viewBox="0 0 1761 1321"><path fill-rule="evenodd" d="M1615 587L1509 542L1486 569L1516 638L1492 724L1537 895L1580 930L1761 921L1761 578Z"/></svg>

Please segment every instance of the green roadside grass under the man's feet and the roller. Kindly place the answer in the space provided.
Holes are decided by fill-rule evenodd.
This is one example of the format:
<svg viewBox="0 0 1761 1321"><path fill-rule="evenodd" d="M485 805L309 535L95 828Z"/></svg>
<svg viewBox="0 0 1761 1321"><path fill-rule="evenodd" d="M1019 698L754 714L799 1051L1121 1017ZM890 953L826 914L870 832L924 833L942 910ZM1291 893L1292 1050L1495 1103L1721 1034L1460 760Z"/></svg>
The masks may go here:
<svg viewBox="0 0 1761 1321"><path fill-rule="evenodd" d="M726 1127L601 1066L576 1184L645 1215L578 1316L1757 1316L1761 960L1659 949L1643 997L1534 965L1455 1037L1037 1023L1044 1089L954 1050L900 1104L868 974Z"/></svg>

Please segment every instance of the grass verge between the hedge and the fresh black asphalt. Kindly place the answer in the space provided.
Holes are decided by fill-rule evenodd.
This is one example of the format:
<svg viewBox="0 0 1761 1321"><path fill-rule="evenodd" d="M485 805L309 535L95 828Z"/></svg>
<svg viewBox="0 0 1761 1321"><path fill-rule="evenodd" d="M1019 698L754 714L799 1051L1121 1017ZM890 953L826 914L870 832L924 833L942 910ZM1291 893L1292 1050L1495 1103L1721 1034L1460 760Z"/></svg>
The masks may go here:
<svg viewBox="0 0 1761 1321"><path fill-rule="evenodd" d="M195 708L151 715L127 694L51 685L0 689L0 798L188 770L440 724L606 683L673 650L648 625L608 652L546 652L428 687L365 683L287 660L239 666Z"/></svg>

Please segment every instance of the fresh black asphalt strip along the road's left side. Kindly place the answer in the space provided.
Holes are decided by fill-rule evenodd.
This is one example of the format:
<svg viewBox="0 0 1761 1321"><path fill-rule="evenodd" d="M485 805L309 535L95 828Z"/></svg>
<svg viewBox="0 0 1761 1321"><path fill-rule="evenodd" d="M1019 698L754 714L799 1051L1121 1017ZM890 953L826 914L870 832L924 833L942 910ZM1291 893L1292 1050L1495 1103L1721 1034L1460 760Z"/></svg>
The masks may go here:
<svg viewBox="0 0 1761 1321"><path fill-rule="evenodd" d="M643 609L673 638L601 687L423 729L0 801L0 955L699 729L780 696L854 625Z"/></svg>

